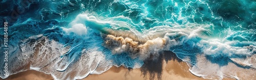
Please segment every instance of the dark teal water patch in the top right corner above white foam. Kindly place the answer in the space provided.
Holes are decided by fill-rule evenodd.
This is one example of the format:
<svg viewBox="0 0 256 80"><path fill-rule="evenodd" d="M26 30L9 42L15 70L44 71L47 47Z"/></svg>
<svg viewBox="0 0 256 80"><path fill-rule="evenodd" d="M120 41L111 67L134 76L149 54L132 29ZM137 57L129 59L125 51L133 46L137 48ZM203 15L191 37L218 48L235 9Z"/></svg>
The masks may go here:
<svg viewBox="0 0 256 80"><path fill-rule="evenodd" d="M256 21L255 18L255 1L241 0L210 0L209 7L215 15L219 15L229 24L239 23L243 28Z"/></svg>

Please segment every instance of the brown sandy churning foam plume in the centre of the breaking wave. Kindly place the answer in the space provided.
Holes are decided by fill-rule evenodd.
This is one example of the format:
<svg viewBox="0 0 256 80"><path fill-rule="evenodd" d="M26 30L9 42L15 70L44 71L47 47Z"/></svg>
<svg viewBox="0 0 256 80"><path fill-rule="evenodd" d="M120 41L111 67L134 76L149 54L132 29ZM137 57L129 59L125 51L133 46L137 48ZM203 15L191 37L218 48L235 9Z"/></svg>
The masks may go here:
<svg viewBox="0 0 256 80"><path fill-rule="evenodd" d="M113 54L127 53L132 59L139 57L144 60L150 56L158 57L158 52L162 51L167 45L165 38L147 40L144 44L139 44L131 38L115 37L113 35L102 34L102 38L104 47L112 50Z"/></svg>

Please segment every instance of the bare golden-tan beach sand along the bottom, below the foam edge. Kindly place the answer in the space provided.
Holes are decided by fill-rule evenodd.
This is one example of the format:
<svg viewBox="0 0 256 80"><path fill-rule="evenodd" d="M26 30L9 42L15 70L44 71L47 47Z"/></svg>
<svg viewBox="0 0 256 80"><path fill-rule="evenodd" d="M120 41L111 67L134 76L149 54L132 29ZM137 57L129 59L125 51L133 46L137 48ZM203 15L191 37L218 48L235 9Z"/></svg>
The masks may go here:
<svg viewBox="0 0 256 80"><path fill-rule="evenodd" d="M145 79L183 79L183 80L203 80L204 78L195 76L194 74L189 72L189 67L185 62L179 60L176 55L169 55L169 59L162 58L162 71L160 72L160 77L157 77L159 73L152 73L141 67L139 69L127 69L123 66L115 67L113 66L108 71L103 72L102 74L90 74L86 78L81 80L102 80L102 79L111 79L111 80L145 80ZM171 58L170 58L171 57ZM167 61L167 62L166 62ZM145 64L144 64L145 65ZM155 65L154 65L155 66ZM146 67L148 68L148 67ZM154 69L154 68L152 68ZM146 72L143 70L146 70ZM154 76L154 78L152 78ZM1 79L1 78L0 78ZM10 75L5 80L53 80L50 74L45 74L43 72L35 71L35 70L27 70L24 72L20 72L17 74ZM225 80L229 80L232 78L224 78Z"/></svg>

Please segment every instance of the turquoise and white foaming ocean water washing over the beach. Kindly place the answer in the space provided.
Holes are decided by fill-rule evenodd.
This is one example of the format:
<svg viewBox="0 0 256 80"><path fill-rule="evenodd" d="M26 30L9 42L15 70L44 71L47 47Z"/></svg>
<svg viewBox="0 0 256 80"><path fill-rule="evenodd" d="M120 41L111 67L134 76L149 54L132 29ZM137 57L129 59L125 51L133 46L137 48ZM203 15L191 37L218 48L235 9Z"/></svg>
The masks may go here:
<svg viewBox="0 0 256 80"><path fill-rule="evenodd" d="M256 78L254 0L3 0L0 22L1 32L8 22L9 48L8 62L0 54L1 78L30 65L54 79L81 79L140 68L163 51L196 76ZM0 39L4 52L4 33Z"/></svg>

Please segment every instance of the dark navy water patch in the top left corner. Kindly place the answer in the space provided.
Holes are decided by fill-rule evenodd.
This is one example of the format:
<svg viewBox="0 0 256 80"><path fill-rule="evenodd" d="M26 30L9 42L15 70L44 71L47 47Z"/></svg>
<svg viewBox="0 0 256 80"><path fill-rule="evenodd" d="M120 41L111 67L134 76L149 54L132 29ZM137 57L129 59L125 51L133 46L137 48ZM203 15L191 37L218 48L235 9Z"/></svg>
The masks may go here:
<svg viewBox="0 0 256 80"><path fill-rule="evenodd" d="M8 21L9 25L13 25L15 22L22 23L30 17L35 18L36 10L39 9L39 4L36 1L8 1L0 3L0 16ZM34 13L29 14L28 13ZM17 23L18 23L17 22Z"/></svg>

